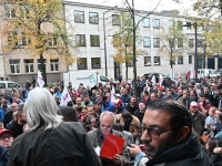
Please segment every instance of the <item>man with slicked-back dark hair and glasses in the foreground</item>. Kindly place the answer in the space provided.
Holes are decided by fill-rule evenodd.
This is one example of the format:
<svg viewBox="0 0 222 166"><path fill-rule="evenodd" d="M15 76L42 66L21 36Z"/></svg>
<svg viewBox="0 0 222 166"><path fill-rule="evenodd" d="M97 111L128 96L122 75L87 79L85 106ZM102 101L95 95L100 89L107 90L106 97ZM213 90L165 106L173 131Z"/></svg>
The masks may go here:
<svg viewBox="0 0 222 166"><path fill-rule="evenodd" d="M144 145L128 147L137 166L210 166L189 111L174 100L159 100L145 111L141 125ZM142 152L143 151L143 152Z"/></svg>

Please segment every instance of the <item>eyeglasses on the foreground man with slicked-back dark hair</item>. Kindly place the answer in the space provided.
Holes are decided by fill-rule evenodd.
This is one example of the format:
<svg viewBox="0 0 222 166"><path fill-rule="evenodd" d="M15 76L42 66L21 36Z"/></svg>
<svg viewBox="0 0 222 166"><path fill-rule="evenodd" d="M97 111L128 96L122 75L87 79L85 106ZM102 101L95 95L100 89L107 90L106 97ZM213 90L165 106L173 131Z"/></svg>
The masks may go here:
<svg viewBox="0 0 222 166"><path fill-rule="evenodd" d="M144 133L144 131L147 131L149 133L149 135L153 138L153 139L159 139L160 135L162 133L165 133L168 131L172 131L173 128L170 128L170 129L164 129L164 131L159 131L159 129L155 129L153 127L147 127L144 125L140 125L141 129L142 129L142 133Z"/></svg>

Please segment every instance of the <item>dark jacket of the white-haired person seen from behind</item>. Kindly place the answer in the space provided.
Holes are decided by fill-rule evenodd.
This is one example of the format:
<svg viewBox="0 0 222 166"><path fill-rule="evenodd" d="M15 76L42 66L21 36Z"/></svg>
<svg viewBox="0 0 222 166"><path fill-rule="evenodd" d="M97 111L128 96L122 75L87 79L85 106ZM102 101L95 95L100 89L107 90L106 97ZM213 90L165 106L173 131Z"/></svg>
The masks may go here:
<svg viewBox="0 0 222 166"><path fill-rule="evenodd" d="M83 127L61 123L57 128L26 132L10 148L8 166L101 166Z"/></svg>

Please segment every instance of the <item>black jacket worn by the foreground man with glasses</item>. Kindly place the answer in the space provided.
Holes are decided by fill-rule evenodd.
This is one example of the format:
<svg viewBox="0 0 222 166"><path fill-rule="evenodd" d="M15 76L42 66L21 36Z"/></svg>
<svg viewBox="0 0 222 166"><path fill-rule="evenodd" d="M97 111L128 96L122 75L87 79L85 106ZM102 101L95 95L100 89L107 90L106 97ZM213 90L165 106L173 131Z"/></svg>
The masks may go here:
<svg viewBox="0 0 222 166"><path fill-rule="evenodd" d="M199 144L199 138L191 133L184 142L162 152L147 163L147 166L210 166L206 153Z"/></svg>

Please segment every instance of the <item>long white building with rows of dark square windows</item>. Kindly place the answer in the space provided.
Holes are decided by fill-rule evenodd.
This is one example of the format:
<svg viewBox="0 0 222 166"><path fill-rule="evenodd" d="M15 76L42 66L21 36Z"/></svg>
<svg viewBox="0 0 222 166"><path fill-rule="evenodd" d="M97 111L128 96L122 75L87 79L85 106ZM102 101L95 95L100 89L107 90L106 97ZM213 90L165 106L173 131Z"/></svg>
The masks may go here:
<svg viewBox="0 0 222 166"><path fill-rule="evenodd" d="M113 61L112 55L115 49L111 44L113 31L117 29L114 17L122 9L113 9L111 7L95 6L88 3L79 3L64 1L64 11L68 20L71 20L72 25L75 28L77 42L80 48L80 60L77 61L70 71L75 70L97 70L101 75L105 75L105 50L104 37L107 49L107 68L108 76L117 77L120 73L125 76L125 64L118 64ZM137 11L140 15L145 15L148 11ZM149 72L160 72L169 75L170 61L160 53L160 40L155 33L160 31L162 24L169 24L172 20L170 11L153 12L147 19L141 21L139 29L143 38L143 44L140 49L144 50L148 54L138 56L137 71L138 75L142 76ZM104 17L104 18L103 18ZM139 21L139 17L135 20ZM188 21L183 17L176 18L181 25L186 24ZM104 25L103 25L104 24ZM173 64L174 74L185 74L191 66L194 65L194 29L183 27L183 32L188 35L188 42L184 43L184 55L175 58ZM198 29L198 35L201 33L201 28ZM104 35L105 34L105 35ZM200 51L201 48L198 49ZM129 64L129 77L133 77L132 64Z"/></svg>

